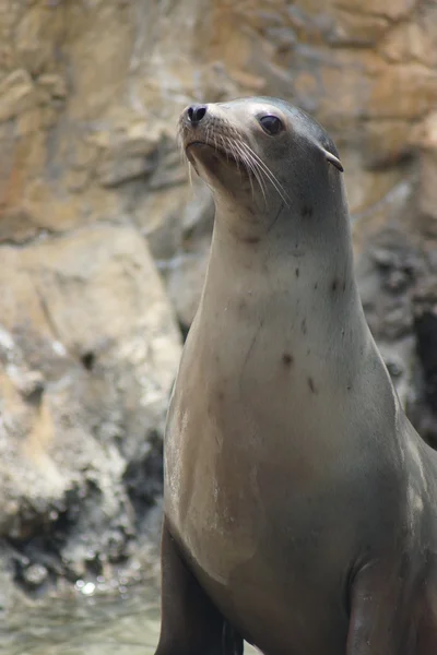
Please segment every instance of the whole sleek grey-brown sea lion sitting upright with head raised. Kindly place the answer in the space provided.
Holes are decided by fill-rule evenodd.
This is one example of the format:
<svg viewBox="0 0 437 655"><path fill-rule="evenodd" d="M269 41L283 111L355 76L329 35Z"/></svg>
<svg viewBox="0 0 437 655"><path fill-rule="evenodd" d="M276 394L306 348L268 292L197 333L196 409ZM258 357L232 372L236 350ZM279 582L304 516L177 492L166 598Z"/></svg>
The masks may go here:
<svg viewBox="0 0 437 655"><path fill-rule="evenodd" d="M272 98L180 131L216 215L165 433L156 655L435 655L437 453L363 313L335 146Z"/></svg>

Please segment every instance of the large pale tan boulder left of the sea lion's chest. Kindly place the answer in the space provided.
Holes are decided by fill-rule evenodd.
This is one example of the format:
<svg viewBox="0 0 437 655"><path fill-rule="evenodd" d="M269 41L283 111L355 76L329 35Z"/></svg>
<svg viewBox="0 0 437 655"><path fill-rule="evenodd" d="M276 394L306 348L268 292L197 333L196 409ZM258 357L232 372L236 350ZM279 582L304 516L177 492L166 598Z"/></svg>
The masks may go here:
<svg viewBox="0 0 437 655"><path fill-rule="evenodd" d="M32 531L23 501L45 521L87 479L102 520L119 520L125 457L162 429L180 353L143 239L102 225L3 247L0 286L0 497L19 508L0 512L1 534Z"/></svg>

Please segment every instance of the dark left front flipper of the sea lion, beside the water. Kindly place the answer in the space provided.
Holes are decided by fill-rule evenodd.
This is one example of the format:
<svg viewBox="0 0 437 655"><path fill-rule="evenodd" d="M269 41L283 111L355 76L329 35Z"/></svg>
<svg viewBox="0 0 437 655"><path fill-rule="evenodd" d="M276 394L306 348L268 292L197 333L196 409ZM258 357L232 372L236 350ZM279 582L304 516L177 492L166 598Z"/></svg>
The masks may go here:
<svg viewBox="0 0 437 655"><path fill-rule="evenodd" d="M161 635L155 655L241 655L236 635L226 630L224 617L182 561L165 517L161 567Z"/></svg>

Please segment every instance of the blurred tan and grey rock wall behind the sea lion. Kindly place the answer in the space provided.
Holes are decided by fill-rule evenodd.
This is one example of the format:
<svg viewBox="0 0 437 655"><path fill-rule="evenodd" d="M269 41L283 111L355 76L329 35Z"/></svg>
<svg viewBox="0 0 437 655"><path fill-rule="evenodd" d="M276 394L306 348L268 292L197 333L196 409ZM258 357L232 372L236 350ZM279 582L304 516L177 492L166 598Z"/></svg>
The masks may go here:
<svg viewBox="0 0 437 655"><path fill-rule="evenodd" d="M437 443L437 1L0 0L2 580L152 565L213 221L177 118L248 95L333 135L367 319Z"/></svg>

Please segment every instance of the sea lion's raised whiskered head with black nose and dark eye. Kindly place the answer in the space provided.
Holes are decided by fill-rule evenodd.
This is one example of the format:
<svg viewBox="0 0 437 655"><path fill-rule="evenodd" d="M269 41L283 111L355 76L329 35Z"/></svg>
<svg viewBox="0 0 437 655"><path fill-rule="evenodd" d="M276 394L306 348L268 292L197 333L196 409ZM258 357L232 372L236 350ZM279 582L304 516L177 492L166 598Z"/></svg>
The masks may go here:
<svg viewBox="0 0 437 655"><path fill-rule="evenodd" d="M344 207L343 167L332 139L284 100L191 105L180 116L179 134L217 209L258 228L270 229L280 214L291 223L321 216L330 205L334 214L335 205Z"/></svg>

